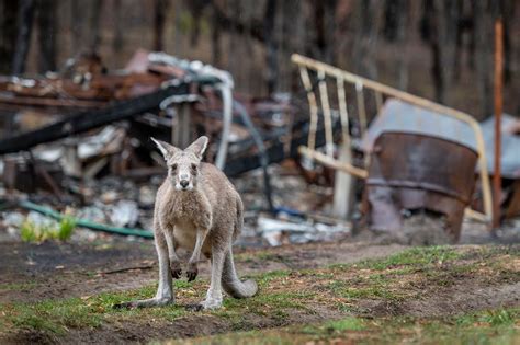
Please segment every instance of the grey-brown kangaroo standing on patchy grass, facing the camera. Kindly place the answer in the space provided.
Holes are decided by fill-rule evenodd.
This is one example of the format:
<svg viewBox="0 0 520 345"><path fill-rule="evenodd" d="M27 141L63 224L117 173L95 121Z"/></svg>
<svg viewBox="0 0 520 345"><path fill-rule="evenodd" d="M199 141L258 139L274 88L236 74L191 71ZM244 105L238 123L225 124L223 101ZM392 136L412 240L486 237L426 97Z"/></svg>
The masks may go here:
<svg viewBox="0 0 520 345"><path fill-rule="evenodd" d="M154 210L155 245L159 258L159 287L154 298L117 307L139 308L174 302L172 278L181 277L179 248L193 250L188 262L189 281L199 274L201 253L211 258L212 276L206 298L194 309L222 307L222 289L234 298L257 294L253 280L240 281L233 261L233 242L244 225L240 195L215 165L201 162L207 137L200 137L185 150L167 142L157 145L168 165L168 176L157 191Z"/></svg>

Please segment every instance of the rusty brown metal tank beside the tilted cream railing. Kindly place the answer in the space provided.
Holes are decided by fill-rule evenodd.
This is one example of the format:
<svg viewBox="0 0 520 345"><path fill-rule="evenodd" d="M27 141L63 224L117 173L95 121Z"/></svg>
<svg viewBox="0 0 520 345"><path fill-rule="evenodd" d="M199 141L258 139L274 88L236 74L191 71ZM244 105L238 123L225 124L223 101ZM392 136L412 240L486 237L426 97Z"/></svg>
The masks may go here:
<svg viewBox="0 0 520 345"><path fill-rule="evenodd" d="M477 153L459 142L403 131L381 134L373 147L366 199L372 230L398 234L403 210L445 216L459 240L464 209L475 189Z"/></svg>

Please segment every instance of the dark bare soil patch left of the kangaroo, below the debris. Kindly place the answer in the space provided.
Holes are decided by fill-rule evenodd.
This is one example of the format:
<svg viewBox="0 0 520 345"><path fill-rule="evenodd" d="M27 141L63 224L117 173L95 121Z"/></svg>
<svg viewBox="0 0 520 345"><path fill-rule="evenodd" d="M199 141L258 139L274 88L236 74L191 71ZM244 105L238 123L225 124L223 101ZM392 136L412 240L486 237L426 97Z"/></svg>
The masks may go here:
<svg viewBox="0 0 520 345"><path fill-rule="evenodd" d="M140 287L156 279L150 243L114 246L0 243L0 302L88 296ZM126 267L154 269L123 271ZM122 279L122 276L124 277Z"/></svg>

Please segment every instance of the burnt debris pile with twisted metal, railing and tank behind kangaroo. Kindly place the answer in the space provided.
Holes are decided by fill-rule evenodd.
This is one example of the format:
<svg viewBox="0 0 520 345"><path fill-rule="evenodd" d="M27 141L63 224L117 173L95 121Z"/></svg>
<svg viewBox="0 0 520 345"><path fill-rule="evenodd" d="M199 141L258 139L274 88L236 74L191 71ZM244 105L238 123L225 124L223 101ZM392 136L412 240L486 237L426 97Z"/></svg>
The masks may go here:
<svg viewBox="0 0 520 345"><path fill-rule="evenodd" d="M150 238L166 173L150 137L185 147L200 135L210 137L205 159L242 195L244 244L361 229L454 243L465 223L489 228L493 118L478 124L319 61L293 61L301 92L268 99L234 92L224 70L144 50L121 70L80 55L43 77L0 77L1 228L16 237L26 219L71 216L81 228ZM520 125L501 122L500 217L515 219Z"/></svg>

